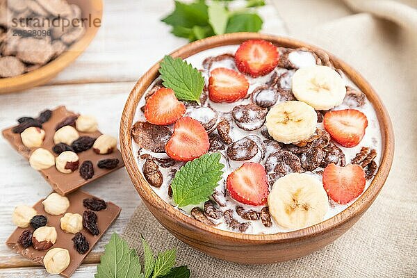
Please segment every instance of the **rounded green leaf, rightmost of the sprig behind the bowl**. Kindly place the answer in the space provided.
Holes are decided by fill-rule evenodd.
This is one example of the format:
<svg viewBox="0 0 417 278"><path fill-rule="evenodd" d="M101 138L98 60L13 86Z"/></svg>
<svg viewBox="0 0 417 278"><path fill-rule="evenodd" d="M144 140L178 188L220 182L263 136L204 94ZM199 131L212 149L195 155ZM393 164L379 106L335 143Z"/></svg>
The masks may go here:
<svg viewBox="0 0 417 278"><path fill-rule="evenodd" d="M232 15L227 23L226 33L258 32L262 28L262 19L255 13Z"/></svg>

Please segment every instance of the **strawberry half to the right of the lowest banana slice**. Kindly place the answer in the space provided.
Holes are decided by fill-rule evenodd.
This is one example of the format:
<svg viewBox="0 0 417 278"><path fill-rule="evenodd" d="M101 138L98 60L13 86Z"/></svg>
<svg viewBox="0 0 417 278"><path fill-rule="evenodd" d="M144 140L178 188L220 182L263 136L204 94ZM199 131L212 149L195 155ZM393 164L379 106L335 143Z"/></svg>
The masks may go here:
<svg viewBox="0 0 417 278"><path fill-rule="evenodd" d="M323 172L323 186L327 195L339 204L347 204L361 195L365 183L365 172L356 164L340 167L332 163Z"/></svg>

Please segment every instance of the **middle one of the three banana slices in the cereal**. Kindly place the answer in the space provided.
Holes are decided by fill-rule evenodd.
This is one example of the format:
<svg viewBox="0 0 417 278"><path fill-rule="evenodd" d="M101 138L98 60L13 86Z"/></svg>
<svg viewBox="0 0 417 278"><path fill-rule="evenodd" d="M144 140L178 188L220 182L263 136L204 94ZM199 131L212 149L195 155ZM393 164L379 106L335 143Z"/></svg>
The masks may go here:
<svg viewBox="0 0 417 278"><path fill-rule="evenodd" d="M272 106L266 128L278 142L290 144L310 138L316 131L317 113L302 101L286 101Z"/></svg>

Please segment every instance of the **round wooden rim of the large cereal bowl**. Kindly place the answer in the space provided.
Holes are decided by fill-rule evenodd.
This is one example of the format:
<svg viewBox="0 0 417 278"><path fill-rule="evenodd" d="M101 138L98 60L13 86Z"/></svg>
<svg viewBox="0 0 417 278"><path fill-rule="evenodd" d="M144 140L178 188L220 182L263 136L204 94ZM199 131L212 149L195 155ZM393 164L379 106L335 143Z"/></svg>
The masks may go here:
<svg viewBox="0 0 417 278"><path fill-rule="evenodd" d="M277 35L261 33L229 33L186 44L185 46L173 51L169 55L173 57L186 58L206 49L211 49L213 47L219 47L222 45L240 44L241 42L249 39L268 40L279 47L307 47L313 50L324 51L319 47L313 46L312 44L307 44L299 40L285 38ZM382 101L379 99L379 96L376 94L375 90L373 90L373 88L363 78L363 76L353 70L353 68L347 65L345 62L330 54L328 51L325 51L325 53L329 54L330 60L332 63L334 63L335 67L343 70L346 76L348 76L355 83L355 85L357 85L359 89L361 89L362 92L366 94L375 108L379 126L382 129L383 154L378 171L375 174L373 181L370 183L370 186L368 186L365 192L355 202L350 204L350 206L345 208L345 210L343 210L341 213L334 215L332 218L303 229L277 234L240 234L232 231L216 229L214 227L203 224L202 222L199 222L188 215L184 215L179 210L163 201L163 199L161 199L161 197L159 197L154 192L154 190L152 190L151 186L149 186L149 183L147 183L147 181L145 181L145 179L142 177L142 174L140 173L136 163L136 158L133 156L131 139L131 126L133 125L133 119L138 106L138 101L140 100L140 97L142 97L142 94L147 90L149 85L159 75L158 68L159 63L161 62L160 60L158 63L153 65L145 74L143 74L142 77L140 77L136 85L131 90L122 111L122 120L120 122L120 147L122 151L122 157L133 186L135 186L140 197L143 201L145 201L145 204L152 206L158 211L162 211L167 215L167 217L171 218L172 220L177 220L179 224L185 225L191 231L205 231L212 236L233 238L233 240L256 244L277 243L317 236L318 234L336 229L351 218L364 213L370 204L373 203L379 191L382 189L382 186L384 186L384 182L386 181L386 178L388 177L389 171L391 169L394 152L393 127L389 118L388 111L386 111L384 104L382 104Z"/></svg>

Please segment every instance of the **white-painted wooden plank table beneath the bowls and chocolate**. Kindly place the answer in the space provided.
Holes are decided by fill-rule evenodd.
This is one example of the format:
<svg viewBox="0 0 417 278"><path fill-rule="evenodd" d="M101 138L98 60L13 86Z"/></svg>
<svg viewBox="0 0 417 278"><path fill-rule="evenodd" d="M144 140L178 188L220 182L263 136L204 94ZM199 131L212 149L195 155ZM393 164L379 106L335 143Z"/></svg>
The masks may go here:
<svg viewBox="0 0 417 278"><path fill-rule="evenodd" d="M103 23L90 47L75 63L47 85L0 96L0 129L24 115L38 115L45 108L64 104L70 111L96 115L99 129L118 137L124 101L141 74L165 54L187 41L169 33L160 19L173 8L171 0L104 0ZM261 8L263 32L284 34L273 5ZM6 239L15 229L11 214L18 204L33 205L51 188L26 159L0 138L0 277L56 277L44 268L8 250ZM116 231L122 234L140 198L123 168L83 190L122 207L115 224L106 232L72 277L94 277L104 245ZM138 231L138 234L140 231Z"/></svg>

